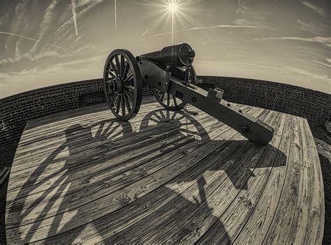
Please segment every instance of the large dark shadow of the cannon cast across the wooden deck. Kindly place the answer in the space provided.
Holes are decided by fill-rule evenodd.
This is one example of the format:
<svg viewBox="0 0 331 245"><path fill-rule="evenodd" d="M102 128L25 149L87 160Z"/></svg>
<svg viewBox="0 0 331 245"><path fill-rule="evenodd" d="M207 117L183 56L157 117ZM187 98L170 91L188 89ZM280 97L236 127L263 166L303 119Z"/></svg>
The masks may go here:
<svg viewBox="0 0 331 245"><path fill-rule="evenodd" d="M219 192L226 178L211 182L205 179L206 173L224 172L236 189L247 189L247 180L254 177L252 169L284 166L286 156L279 157L281 161L259 163L267 147L283 153L271 144L257 147L247 140L210 138L211 131L217 135L221 123L210 124L207 118L200 121L183 112L154 110L132 124L113 119L88 127L69 126L64 131L66 142L38 165L13 201L16 204L9 213L17 220L15 235L24 243L43 239L65 243L89 239L106 243L180 242L193 233L203 236L200 224L186 218L200 212L212 224L207 230L219 230L223 242L230 243L219 215L208 203L209 195ZM203 148L207 144L209 147ZM191 151L191 147L196 150ZM184 168L202 148L215 151ZM247 164L251 159L243 152L258 158ZM172 155L176 161L171 162ZM64 164L47 168L59 161ZM167 169L177 172L169 172L168 177L158 175L164 179L159 186L149 183L131 195L130 188L137 188L136 182L143 184L144 179ZM43 188L47 182L50 184ZM152 186L152 191L147 186ZM186 188L177 191L178 186ZM30 200L29 193L38 188L43 189Z"/></svg>

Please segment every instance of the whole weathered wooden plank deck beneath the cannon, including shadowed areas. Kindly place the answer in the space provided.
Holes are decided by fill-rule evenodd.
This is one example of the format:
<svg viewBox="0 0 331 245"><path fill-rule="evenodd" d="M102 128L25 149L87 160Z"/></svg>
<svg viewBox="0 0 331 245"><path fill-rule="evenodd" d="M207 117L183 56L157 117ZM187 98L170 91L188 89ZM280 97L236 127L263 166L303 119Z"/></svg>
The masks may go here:
<svg viewBox="0 0 331 245"><path fill-rule="evenodd" d="M321 243L323 181L306 119L241 107L274 127L266 147L154 98L130 122L105 104L29 121L10 172L8 244Z"/></svg>

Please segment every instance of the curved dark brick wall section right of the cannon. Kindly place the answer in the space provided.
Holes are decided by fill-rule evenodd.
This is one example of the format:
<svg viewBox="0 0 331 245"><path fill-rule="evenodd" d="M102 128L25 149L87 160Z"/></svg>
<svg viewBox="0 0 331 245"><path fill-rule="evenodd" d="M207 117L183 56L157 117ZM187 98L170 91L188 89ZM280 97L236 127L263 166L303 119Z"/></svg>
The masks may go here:
<svg viewBox="0 0 331 245"><path fill-rule="evenodd" d="M330 94L279 82L235 77L198 78L203 80L203 84L200 85L203 89L223 89L223 98L226 101L295 114L318 124L330 121Z"/></svg>

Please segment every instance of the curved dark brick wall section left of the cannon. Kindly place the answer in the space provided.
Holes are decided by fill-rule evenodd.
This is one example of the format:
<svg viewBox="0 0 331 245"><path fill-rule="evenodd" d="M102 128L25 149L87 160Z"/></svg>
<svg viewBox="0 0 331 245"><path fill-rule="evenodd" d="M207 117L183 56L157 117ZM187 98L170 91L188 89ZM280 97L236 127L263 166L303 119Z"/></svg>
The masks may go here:
<svg viewBox="0 0 331 245"><path fill-rule="evenodd" d="M143 96L152 95L145 87ZM29 119L102 103L103 80L87 80L35 89L0 99L0 146L17 142Z"/></svg>

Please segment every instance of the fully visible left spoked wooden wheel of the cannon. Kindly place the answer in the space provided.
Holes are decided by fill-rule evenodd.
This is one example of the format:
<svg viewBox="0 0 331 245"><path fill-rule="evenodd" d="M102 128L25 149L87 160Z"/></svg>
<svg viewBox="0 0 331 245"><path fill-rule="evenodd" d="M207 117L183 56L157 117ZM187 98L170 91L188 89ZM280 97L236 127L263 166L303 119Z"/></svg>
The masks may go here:
<svg viewBox="0 0 331 245"><path fill-rule="evenodd" d="M103 89L112 113L128 121L138 113L142 101L142 80L135 57L128 50L114 50L103 71Z"/></svg>

